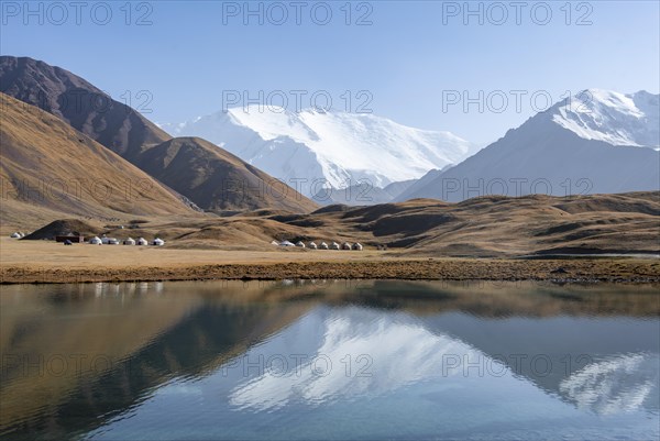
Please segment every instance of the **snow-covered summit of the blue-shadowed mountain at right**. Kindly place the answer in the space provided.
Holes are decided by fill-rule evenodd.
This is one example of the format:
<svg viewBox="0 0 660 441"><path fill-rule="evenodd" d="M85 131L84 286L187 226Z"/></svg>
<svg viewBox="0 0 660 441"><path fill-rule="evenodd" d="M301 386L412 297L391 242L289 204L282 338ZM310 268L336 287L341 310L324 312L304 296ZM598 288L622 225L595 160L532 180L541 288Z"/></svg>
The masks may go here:
<svg viewBox="0 0 660 441"><path fill-rule="evenodd" d="M552 121L585 140L660 146L660 96L586 89L556 104Z"/></svg>

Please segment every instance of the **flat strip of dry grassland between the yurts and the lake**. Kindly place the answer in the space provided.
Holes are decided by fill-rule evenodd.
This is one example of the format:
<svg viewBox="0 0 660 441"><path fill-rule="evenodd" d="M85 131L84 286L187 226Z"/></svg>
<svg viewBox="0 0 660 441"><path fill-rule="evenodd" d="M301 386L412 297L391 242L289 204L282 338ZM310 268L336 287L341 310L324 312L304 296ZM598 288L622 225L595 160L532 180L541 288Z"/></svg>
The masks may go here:
<svg viewBox="0 0 660 441"><path fill-rule="evenodd" d="M0 240L0 283L208 279L424 279L660 283L660 260L400 256L394 252L63 246Z"/></svg>

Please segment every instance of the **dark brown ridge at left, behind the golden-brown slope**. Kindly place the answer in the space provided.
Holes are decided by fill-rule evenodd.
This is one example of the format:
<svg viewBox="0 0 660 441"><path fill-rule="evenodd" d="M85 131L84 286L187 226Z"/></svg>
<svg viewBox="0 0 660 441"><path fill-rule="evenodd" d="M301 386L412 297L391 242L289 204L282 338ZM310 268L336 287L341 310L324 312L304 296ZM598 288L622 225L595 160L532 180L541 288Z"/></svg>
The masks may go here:
<svg viewBox="0 0 660 441"><path fill-rule="evenodd" d="M135 110L59 67L1 56L0 91L55 114L204 209L308 212L318 208L215 144L172 140Z"/></svg>

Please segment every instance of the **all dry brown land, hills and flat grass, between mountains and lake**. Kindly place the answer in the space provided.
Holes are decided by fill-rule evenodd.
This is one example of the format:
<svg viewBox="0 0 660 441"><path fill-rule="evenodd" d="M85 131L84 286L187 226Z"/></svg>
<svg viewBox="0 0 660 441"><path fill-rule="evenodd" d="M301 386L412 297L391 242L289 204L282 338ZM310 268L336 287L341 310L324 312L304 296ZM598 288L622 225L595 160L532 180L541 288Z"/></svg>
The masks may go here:
<svg viewBox="0 0 660 441"><path fill-rule="evenodd" d="M78 231L165 246L12 240L0 231L3 283L399 278L560 282L660 280L660 194L552 198L418 199L331 206L308 214L257 210L231 217L144 218L139 223L68 220L36 239ZM3 209L7 206L3 206ZM33 220L32 220L33 221ZM130 221L129 221L130 222ZM26 231L26 230L23 230ZM29 230L28 230L29 231ZM364 251L284 249L292 242L360 242ZM387 251L378 251L387 245Z"/></svg>

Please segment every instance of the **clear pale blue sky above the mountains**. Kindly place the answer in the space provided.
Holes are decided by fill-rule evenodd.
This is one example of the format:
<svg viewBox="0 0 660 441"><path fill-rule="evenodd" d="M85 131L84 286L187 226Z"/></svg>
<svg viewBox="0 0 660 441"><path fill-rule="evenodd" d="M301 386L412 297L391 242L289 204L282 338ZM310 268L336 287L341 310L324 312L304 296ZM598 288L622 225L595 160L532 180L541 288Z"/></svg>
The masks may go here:
<svg viewBox="0 0 660 441"><path fill-rule="evenodd" d="M547 99L660 87L658 1L74 3L31 2L26 14L3 0L0 53L62 66L157 122L263 91L265 103L330 97L340 110L486 143Z"/></svg>

